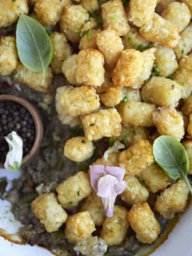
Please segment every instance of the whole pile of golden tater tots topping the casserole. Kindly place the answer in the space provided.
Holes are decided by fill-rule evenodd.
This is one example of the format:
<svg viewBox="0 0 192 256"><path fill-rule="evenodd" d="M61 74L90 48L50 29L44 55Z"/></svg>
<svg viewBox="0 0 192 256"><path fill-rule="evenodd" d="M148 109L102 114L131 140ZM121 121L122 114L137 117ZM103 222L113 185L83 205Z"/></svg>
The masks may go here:
<svg viewBox="0 0 192 256"><path fill-rule="evenodd" d="M23 13L50 31L53 59L45 81L20 63L14 35L0 37L0 75L55 94L60 122L84 131L66 141L63 154L84 162L105 138L111 150L92 165L125 168L127 183L111 218L89 170L39 195L35 216L47 232L65 223L66 239L79 246L98 227L108 246L120 245L129 229L140 243L153 243L161 231L158 216L185 211L189 195L183 179L172 182L157 165L152 144L160 135L181 141L192 174L192 0L1 0L0 27ZM58 74L64 82L55 91ZM124 148L113 150L115 141ZM75 207L78 212L68 214Z"/></svg>

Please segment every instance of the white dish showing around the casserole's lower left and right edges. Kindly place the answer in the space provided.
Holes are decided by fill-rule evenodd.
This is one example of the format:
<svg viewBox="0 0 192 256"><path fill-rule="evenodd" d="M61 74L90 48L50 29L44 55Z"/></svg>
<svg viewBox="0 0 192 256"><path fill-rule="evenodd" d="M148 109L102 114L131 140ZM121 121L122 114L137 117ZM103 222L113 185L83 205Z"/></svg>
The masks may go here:
<svg viewBox="0 0 192 256"><path fill-rule="evenodd" d="M7 172L0 169L0 177L7 176L8 188L11 188L11 180L20 176L18 172ZM10 212L10 203L0 200L0 228L8 233L15 233L21 226L14 220ZM179 223L170 234L169 238L151 256L192 256L192 206L180 218ZM52 256L46 249L38 246L13 244L0 237L0 255L2 256Z"/></svg>

